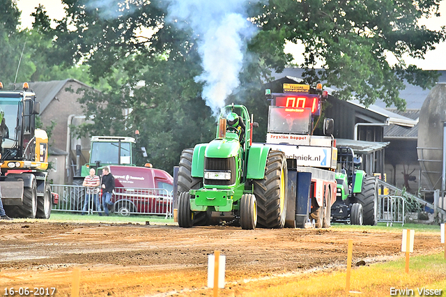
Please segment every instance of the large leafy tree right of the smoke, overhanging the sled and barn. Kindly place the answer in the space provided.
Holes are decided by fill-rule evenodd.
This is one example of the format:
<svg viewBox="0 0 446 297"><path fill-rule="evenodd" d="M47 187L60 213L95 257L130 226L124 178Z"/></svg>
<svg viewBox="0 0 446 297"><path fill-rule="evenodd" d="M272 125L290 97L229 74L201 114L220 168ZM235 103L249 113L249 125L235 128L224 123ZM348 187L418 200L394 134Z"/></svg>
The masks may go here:
<svg viewBox="0 0 446 297"><path fill-rule="evenodd" d="M326 81L337 96L349 100L352 94L365 105L377 99L404 109L399 98L403 79L410 84L432 86L438 74L406 66L404 54L422 58L445 40L445 27L431 31L420 26L420 17L438 15L440 1L282 1L270 0L256 18L263 31L276 32L285 40L305 45L302 67L306 82ZM387 55L399 63L390 66ZM323 71L314 70L318 61Z"/></svg>

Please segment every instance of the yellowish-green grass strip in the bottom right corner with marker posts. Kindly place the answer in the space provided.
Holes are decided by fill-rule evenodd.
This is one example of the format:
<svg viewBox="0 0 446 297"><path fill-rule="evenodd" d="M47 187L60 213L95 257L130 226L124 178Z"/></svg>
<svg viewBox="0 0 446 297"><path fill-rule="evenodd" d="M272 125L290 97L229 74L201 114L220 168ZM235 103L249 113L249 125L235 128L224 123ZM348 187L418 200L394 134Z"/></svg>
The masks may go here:
<svg viewBox="0 0 446 297"><path fill-rule="evenodd" d="M274 282L256 282L255 288L243 296L446 296L443 253L411 257L409 273L404 268L403 256L397 261L353 268L349 293L345 291L346 269L343 269L277 277Z"/></svg>

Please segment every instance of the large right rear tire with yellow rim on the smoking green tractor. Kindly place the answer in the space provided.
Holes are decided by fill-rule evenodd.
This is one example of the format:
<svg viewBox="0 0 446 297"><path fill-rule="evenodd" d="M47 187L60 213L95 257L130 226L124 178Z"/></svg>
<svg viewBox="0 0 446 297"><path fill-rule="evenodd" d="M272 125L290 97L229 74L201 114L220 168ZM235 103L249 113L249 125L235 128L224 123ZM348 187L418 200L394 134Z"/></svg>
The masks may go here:
<svg viewBox="0 0 446 297"><path fill-rule="evenodd" d="M257 226L283 228L286 219L288 177L286 157L282 151L270 151L266 160L265 177L253 180L257 201Z"/></svg>

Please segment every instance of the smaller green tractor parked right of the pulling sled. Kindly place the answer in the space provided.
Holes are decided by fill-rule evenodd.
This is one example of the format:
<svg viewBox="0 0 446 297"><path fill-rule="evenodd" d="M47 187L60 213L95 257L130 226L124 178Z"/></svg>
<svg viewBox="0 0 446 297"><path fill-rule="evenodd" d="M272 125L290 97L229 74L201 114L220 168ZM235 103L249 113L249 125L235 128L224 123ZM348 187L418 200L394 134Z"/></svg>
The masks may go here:
<svg viewBox="0 0 446 297"><path fill-rule="evenodd" d="M358 169L362 158L352 148L337 148L337 199L332 205L332 222L376 225L378 181Z"/></svg>

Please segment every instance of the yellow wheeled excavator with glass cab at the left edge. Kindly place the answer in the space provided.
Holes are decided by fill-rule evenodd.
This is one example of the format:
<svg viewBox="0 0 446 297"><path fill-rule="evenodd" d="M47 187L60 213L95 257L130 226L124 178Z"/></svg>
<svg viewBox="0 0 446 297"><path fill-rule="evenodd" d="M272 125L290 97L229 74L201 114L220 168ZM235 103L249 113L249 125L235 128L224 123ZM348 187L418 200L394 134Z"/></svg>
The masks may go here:
<svg viewBox="0 0 446 297"><path fill-rule="evenodd" d="M40 102L24 83L3 90L0 82L0 189L6 215L43 218L51 215L54 195L47 181L48 136L36 129Z"/></svg>

